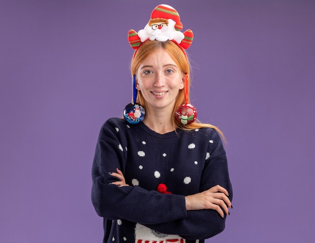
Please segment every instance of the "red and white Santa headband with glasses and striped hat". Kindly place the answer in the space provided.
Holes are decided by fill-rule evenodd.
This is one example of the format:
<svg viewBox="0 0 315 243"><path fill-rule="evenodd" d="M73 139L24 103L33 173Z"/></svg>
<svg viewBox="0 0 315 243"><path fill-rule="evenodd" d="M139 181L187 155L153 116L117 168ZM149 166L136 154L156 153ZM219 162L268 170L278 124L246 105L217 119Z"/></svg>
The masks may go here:
<svg viewBox="0 0 315 243"><path fill-rule="evenodd" d="M171 40L176 43L186 55L184 49L188 49L191 45L193 32L186 30L182 33L182 29L183 24L181 23L178 12L171 6L162 4L152 11L151 19L144 29L139 30L138 33L134 30L129 30L128 41L130 46L137 51L139 46L147 40L162 42Z"/></svg>

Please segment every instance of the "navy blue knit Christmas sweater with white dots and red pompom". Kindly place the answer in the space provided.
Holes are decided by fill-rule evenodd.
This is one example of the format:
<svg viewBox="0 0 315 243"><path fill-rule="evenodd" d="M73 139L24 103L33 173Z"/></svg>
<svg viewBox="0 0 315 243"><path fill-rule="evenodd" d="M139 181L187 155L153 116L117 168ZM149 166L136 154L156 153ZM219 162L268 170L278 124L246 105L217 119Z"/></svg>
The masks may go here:
<svg viewBox="0 0 315 243"><path fill-rule="evenodd" d="M116 168L129 186L111 184L118 180L110 175ZM225 151L212 128L159 134L144 123L111 118L99 134L92 178L103 242L201 243L225 227L226 215L185 206L185 196L215 185L232 199Z"/></svg>

